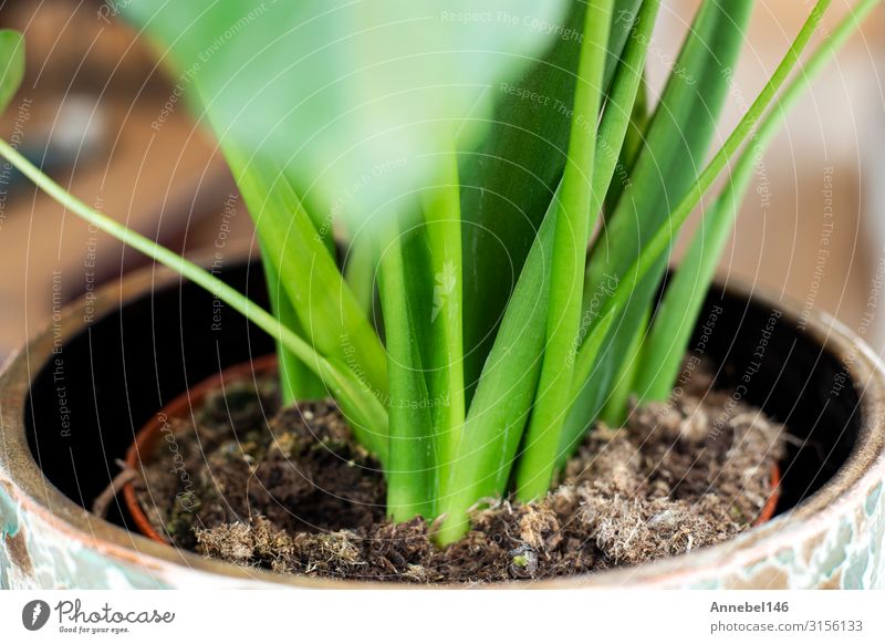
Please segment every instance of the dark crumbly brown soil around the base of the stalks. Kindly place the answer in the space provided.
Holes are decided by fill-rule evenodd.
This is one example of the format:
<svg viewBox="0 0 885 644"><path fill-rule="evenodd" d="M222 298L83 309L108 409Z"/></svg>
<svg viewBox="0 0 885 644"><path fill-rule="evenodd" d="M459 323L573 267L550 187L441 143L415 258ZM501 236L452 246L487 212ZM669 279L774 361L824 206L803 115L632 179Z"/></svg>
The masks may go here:
<svg viewBox="0 0 885 644"><path fill-rule="evenodd" d="M271 381L228 385L178 422L137 481L176 546L281 573L492 582L629 565L725 541L771 492L784 428L697 374L678 399L593 428L539 502L478 509L445 550L416 519L385 519L378 465L334 404L279 409ZM270 420L266 418L270 417Z"/></svg>

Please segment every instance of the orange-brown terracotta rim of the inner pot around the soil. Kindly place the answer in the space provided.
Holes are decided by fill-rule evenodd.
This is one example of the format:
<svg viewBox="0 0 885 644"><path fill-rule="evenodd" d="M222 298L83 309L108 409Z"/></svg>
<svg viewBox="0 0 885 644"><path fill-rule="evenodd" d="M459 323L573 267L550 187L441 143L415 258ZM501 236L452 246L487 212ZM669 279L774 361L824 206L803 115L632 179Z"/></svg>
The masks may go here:
<svg viewBox="0 0 885 644"><path fill-rule="evenodd" d="M191 411L199 407L206 396L221 385L230 384L236 381L251 380L257 376L264 376L277 371L277 356L264 355L251 362L244 362L226 368L212 375L190 389L174 398L168 405L164 406L154 417L145 424L135 437L135 442L126 450L126 465L136 471L142 470L142 464L150 463L156 454L157 447L163 440L163 428L170 418L185 419ZM780 499L781 471L777 463L771 468L771 495L762 506L759 517L753 521L753 526L759 526L770 520L774 516ZM123 487L123 498L126 509L132 516L138 531L145 537L159 543L168 544L169 541L150 523L145 515L142 503L135 494L132 482Z"/></svg>

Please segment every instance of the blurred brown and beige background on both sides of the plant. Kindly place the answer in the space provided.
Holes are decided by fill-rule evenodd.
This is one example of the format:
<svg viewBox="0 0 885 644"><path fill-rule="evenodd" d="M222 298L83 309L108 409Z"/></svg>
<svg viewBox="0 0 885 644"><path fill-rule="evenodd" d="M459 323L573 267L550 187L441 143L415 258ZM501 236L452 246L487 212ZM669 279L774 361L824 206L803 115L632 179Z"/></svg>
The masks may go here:
<svg viewBox="0 0 885 644"><path fill-rule="evenodd" d="M137 1L137 0L136 0ZM0 2L0 27L25 33L28 75L0 135L82 200L175 250L252 243L223 159L119 1ZM665 0L649 54L663 85L695 0ZM760 0L735 70L728 135L812 3ZM827 24L844 13L834 0ZM813 85L766 157L722 274L824 310L881 351L885 315L885 7ZM146 263L90 230L0 165L0 360L51 320L53 305ZM885 295L882 295L885 298Z"/></svg>

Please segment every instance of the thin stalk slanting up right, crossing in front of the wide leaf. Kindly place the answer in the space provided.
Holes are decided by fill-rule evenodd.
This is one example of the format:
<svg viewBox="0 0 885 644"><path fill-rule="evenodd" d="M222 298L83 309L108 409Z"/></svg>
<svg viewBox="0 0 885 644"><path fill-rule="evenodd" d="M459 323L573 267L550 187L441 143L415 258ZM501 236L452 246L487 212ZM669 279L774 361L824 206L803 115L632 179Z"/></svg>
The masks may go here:
<svg viewBox="0 0 885 644"><path fill-rule="evenodd" d="M606 300L602 311L603 316L612 312L621 311L629 303L635 284L639 283L648 271L658 262L667 248L669 248L676 231L685 224L688 216L700 201L700 198L710 188L722 169L735 157L741 144L748 138L759 123L762 114L773 102L778 91L799 62L800 54L808 45L818 24L820 24L821 18L823 18L823 13L830 2L831 0L819 0L815 3L814 8L811 10L811 14L802 25L802 29L790 45L790 49L784 54L774 74L759 93L756 101L753 101L747 114L740 120L725 145L716 153L707 167L704 168L704 172L676 209L673 210L668 219L657 227L655 233L626 271L624 279L618 283L615 292ZM602 324L597 324L591 330L587 340L606 331L607 329L603 329ZM586 382L586 378L590 377L600 344L601 343L585 342L586 346L582 345L579 351L575 368L575 382L579 383L579 385L582 382Z"/></svg>

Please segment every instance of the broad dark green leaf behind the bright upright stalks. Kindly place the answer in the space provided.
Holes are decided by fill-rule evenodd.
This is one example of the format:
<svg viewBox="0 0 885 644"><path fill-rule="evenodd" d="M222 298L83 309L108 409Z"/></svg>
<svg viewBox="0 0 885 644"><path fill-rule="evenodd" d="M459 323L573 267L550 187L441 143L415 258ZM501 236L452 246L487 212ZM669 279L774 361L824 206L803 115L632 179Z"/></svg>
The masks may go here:
<svg viewBox="0 0 885 644"><path fill-rule="evenodd" d="M615 0L606 87L639 4ZM488 135L475 152L461 155L468 403L565 166L585 8L572 2L543 59L518 80L493 87L496 111Z"/></svg>

